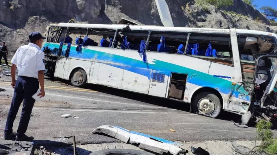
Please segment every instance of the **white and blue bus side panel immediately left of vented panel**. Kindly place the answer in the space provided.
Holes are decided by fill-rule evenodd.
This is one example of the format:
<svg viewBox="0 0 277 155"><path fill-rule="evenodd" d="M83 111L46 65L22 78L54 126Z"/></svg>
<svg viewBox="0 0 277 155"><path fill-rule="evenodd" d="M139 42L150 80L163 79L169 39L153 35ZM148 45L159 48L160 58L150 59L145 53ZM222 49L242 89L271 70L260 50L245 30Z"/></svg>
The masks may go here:
<svg viewBox="0 0 277 155"><path fill-rule="evenodd" d="M152 69L125 66L121 89L148 94L151 72Z"/></svg>

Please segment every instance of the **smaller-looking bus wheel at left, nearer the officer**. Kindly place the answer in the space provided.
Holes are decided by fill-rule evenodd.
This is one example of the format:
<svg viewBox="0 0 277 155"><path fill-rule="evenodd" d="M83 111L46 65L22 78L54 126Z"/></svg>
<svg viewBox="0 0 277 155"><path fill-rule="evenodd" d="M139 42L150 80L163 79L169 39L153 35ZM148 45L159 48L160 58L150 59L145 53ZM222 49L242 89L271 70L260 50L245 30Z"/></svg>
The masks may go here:
<svg viewBox="0 0 277 155"><path fill-rule="evenodd" d="M87 84L87 73L83 69L75 69L71 74L70 82L75 87L85 87Z"/></svg>

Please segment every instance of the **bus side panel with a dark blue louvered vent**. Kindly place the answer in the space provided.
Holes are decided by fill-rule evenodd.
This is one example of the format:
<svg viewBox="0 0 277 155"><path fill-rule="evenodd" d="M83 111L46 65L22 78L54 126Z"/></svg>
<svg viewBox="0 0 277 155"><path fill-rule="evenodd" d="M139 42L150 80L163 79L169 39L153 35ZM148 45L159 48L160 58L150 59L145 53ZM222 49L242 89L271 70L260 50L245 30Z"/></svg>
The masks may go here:
<svg viewBox="0 0 277 155"><path fill-rule="evenodd" d="M149 87L149 95L165 97L169 72L153 70Z"/></svg>

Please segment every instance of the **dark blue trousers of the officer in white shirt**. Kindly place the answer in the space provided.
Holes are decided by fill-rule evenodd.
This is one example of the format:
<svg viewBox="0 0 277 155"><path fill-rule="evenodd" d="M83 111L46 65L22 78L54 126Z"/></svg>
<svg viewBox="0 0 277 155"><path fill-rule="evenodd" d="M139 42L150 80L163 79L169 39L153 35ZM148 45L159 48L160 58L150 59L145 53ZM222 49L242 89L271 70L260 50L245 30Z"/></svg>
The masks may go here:
<svg viewBox="0 0 277 155"><path fill-rule="evenodd" d="M38 88L39 82L37 78L18 76L14 88L14 97L12 98L12 103L6 122L5 135L12 133L14 119L22 101L23 107L17 129L17 135L22 136L25 134L35 103L35 99L33 99L32 96L38 91Z"/></svg>

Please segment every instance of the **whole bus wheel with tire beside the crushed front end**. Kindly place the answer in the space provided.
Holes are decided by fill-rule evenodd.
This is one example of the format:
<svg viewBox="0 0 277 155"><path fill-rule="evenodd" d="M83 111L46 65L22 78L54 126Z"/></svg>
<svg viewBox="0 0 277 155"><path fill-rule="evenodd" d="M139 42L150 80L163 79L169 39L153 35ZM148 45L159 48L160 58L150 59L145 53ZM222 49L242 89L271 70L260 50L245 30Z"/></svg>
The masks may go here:
<svg viewBox="0 0 277 155"><path fill-rule="evenodd" d="M192 111L207 117L216 118L222 110L220 99L211 92L201 92L192 100Z"/></svg>

